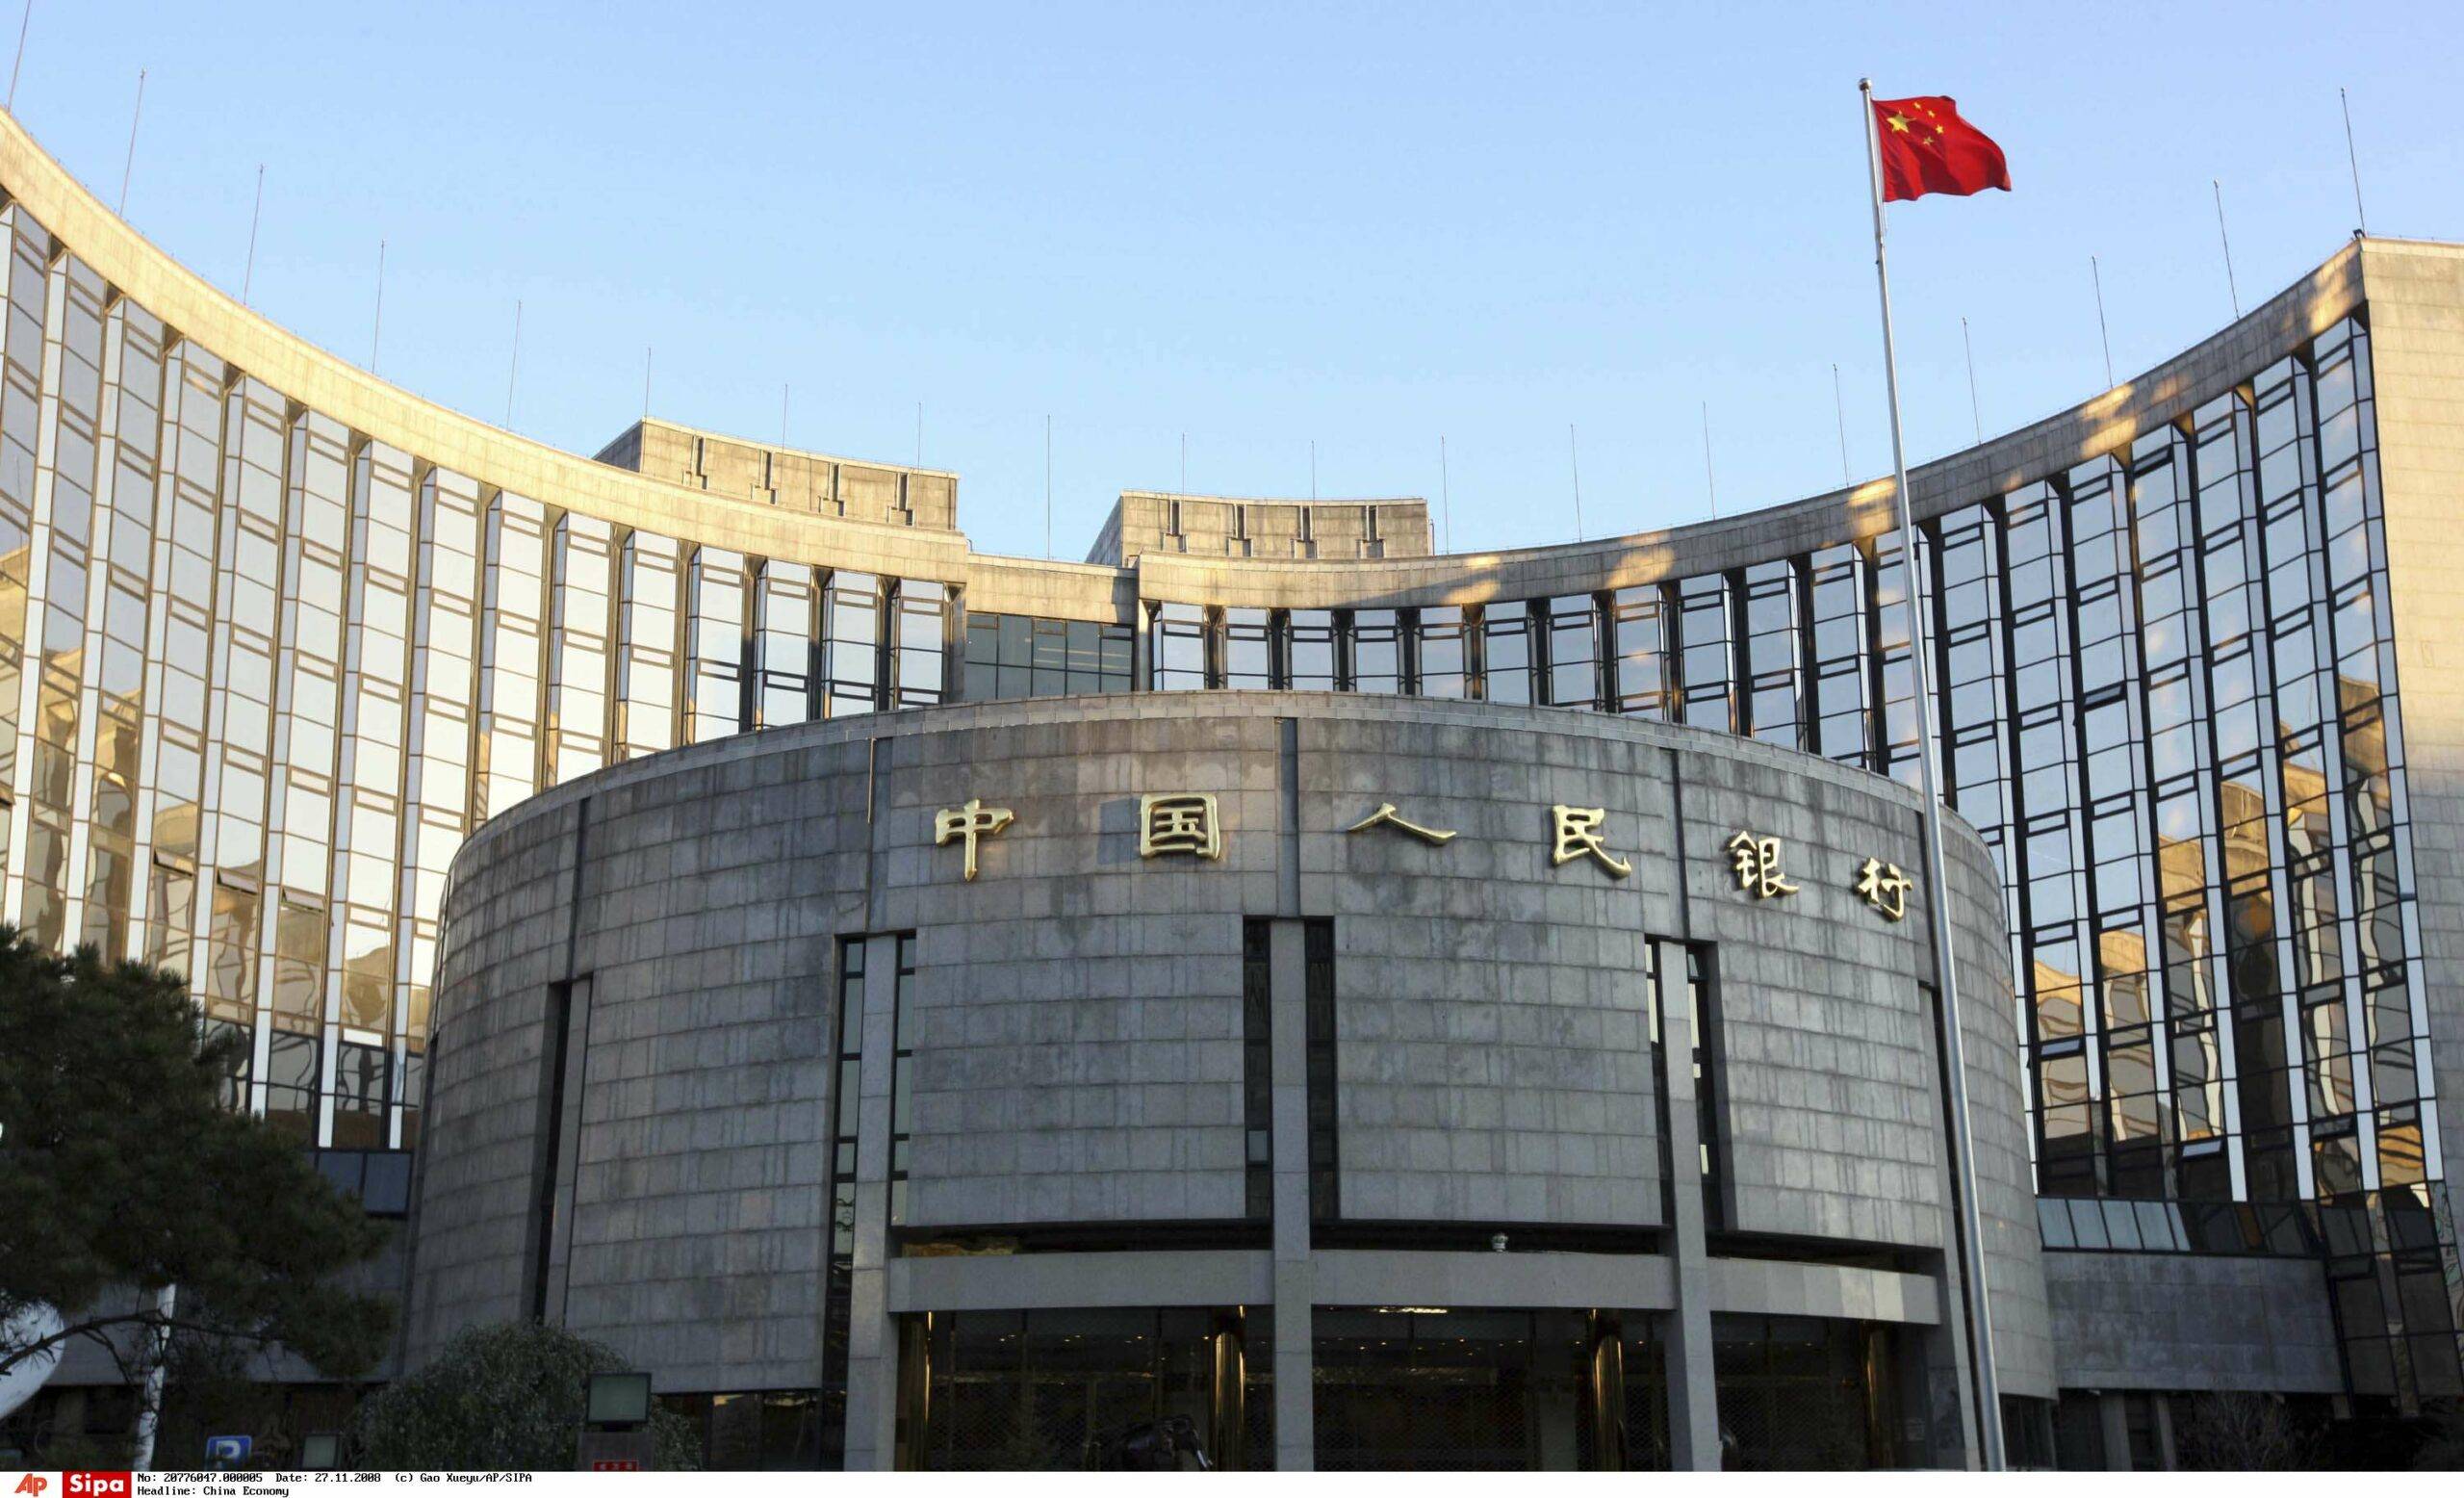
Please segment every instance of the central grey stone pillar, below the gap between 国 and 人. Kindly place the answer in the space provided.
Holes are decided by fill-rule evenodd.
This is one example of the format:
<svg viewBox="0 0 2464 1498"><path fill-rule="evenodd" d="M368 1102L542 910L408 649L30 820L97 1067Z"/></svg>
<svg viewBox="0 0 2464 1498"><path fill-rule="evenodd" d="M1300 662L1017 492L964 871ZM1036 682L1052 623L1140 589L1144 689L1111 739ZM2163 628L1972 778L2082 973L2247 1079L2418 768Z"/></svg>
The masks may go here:
<svg viewBox="0 0 2464 1498"><path fill-rule="evenodd" d="M1308 946L1276 921L1266 946L1274 1050L1274 1466L1316 1471L1316 1274L1308 1264Z"/></svg>

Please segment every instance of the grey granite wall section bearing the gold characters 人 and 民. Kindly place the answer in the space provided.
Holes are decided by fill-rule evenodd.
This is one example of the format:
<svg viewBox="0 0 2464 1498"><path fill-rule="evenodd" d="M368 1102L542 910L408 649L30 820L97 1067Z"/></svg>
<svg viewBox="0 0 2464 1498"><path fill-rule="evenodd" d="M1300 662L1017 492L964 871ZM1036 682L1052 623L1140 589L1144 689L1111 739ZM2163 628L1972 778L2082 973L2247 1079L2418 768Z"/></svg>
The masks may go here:
<svg viewBox="0 0 2464 1498"><path fill-rule="evenodd" d="M1676 882L1661 759L1619 739L1301 719L1301 907L1335 919L1343 1217L1661 1222L1643 968ZM1456 838L1345 830L1387 803ZM1634 877L1592 857L1552 867L1560 803L1602 808Z"/></svg>

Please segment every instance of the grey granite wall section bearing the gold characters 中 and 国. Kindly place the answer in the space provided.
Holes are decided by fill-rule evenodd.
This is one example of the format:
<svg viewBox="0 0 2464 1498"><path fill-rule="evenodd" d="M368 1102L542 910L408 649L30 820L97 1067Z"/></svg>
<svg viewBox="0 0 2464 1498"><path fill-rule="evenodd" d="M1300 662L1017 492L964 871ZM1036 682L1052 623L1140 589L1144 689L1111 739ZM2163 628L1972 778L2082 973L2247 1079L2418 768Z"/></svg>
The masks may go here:
<svg viewBox="0 0 2464 1498"><path fill-rule="evenodd" d="M1274 914L1266 717L904 734L877 828L885 929L917 931L909 1227L1244 1210L1242 914ZM1222 860L1138 857L1141 793L1210 793ZM939 808L1015 811L963 850Z"/></svg>

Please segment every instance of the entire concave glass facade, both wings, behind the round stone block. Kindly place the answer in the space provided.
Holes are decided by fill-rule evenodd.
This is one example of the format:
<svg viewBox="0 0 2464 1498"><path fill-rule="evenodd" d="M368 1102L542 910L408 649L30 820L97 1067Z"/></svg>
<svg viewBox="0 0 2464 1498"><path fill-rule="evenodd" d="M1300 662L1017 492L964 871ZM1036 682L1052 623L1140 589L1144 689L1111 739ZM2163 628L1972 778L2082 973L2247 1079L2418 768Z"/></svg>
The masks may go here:
<svg viewBox="0 0 2464 1498"><path fill-rule="evenodd" d="M606 764L944 700L1303 687L1915 781L1915 572L1944 783L2003 877L2040 1192L2306 1205L2353 1392L2464 1392L2368 308L2089 461L1981 480L1915 567L1843 510L1710 569L1639 537L1680 562L1572 591L1311 562L1279 572L1360 569L1353 606L1264 604L1242 564L1168 601L1138 559L1101 591L1136 604L1032 613L1008 581L971 611L993 562L963 552L885 572L885 525L766 557L747 500L675 488L633 525L463 473L229 365L25 202L0 239L0 919L185 971L254 1037L234 1099L303 1143L416 1146L448 860Z"/></svg>

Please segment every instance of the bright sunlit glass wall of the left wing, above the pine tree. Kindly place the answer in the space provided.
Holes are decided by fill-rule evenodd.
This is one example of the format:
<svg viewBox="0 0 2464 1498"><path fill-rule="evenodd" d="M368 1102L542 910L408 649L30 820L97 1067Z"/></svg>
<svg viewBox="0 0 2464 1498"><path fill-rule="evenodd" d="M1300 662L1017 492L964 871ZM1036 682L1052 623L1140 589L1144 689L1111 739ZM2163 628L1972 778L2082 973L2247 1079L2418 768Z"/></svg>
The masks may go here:
<svg viewBox="0 0 2464 1498"><path fill-rule="evenodd" d="M0 237L0 919L187 973L251 1037L232 1101L301 1143L416 1146L476 825L949 695L956 589L498 490L180 338L22 204Z"/></svg>

